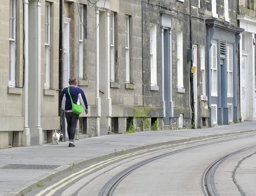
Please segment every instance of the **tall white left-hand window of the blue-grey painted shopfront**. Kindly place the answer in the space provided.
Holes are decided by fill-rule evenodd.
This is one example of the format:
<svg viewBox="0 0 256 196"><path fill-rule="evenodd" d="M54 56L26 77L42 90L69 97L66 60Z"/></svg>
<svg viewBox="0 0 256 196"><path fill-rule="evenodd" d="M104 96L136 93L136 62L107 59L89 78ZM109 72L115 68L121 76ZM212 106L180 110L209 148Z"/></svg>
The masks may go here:
<svg viewBox="0 0 256 196"><path fill-rule="evenodd" d="M218 96L217 44L211 46L211 96Z"/></svg>

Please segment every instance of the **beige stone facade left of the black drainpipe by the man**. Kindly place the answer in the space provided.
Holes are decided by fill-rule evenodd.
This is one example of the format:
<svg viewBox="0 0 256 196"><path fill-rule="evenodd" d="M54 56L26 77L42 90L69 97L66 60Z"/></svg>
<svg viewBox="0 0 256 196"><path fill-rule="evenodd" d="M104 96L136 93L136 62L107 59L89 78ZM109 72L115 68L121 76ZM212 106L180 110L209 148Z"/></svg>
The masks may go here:
<svg viewBox="0 0 256 196"><path fill-rule="evenodd" d="M42 145L59 125L59 3L8 0L1 11L0 148Z"/></svg>

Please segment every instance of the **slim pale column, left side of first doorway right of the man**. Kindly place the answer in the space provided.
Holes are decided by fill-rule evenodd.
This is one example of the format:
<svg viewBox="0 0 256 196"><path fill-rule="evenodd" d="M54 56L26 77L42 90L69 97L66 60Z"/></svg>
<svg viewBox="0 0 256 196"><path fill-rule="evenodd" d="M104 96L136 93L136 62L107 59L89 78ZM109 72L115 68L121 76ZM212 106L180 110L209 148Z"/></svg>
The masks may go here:
<svg viewBox="0 0 256 196"><path fill-rule="evenodd" d="M96 87L95 87L95 94L96 94L96 133L97 136L100 136L100 116L101 116L101 106L100 106L100 37L99 37L99 22L100 22L100 9L95 8L95 15L96 15Z"/></svg>

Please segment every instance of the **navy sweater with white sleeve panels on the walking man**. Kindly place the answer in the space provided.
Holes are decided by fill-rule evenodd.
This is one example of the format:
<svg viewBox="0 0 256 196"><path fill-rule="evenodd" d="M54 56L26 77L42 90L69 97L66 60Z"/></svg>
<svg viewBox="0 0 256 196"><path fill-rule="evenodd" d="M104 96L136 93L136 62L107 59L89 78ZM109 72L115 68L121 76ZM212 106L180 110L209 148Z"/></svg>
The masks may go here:
<svg viewBox="0 0 256 196"><path fill-rule="evenodd" d="M72 100L77 105L82 105L83 109L88 109L88 104L86 101L85 94L83 93L83 90L76 86L70 86L69 87L69 93L72 97ZM72 104L70 100L70 96L68 93L67 87L63 89L60 96L60 104L61 109L65 111L72 111Z"/></svg>

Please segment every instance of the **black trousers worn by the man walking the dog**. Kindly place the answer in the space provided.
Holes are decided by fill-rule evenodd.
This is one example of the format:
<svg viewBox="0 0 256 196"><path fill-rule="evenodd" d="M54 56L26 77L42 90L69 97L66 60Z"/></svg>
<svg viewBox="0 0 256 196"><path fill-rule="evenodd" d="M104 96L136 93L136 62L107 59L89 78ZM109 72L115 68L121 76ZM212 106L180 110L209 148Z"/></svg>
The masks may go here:
<svg viewBox="0 0 256 196"><path fill-rule="evenodd" d="M73 142L74 137L76 135L76 126L77 126L79 115L69 112L69 113L65 113L65 117L67 119L67 132L69 135L69 141Z"/></svg>

